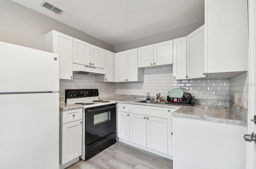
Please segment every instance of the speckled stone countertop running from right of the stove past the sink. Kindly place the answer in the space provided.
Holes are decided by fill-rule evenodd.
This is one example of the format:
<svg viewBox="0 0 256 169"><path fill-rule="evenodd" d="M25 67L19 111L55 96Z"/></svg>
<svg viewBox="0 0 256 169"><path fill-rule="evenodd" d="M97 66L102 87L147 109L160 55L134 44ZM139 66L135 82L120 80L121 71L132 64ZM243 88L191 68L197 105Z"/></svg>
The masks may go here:
<svg viewBox="0 0 256 169"><path fill-rule="evenodd" d="M247 110L228 100L194 99L195 106L181 106L141 103L138 101L145 100L145 98L138 96L116 96L100 99L113 100L117 103L174 108L177 110L172 113L173 116L247 126Z"/></svg>

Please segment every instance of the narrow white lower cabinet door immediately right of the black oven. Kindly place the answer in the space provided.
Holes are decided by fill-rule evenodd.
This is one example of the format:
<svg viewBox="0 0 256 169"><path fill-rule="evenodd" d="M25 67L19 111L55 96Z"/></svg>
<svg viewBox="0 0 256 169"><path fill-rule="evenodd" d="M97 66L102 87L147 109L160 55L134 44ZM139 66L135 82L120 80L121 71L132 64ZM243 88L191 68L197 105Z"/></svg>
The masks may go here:
<svg viewBox="0 0 256 169"><path fill-rule="evenodd" d="M118 138L130 141L130 113L118 112Z"/></svg>

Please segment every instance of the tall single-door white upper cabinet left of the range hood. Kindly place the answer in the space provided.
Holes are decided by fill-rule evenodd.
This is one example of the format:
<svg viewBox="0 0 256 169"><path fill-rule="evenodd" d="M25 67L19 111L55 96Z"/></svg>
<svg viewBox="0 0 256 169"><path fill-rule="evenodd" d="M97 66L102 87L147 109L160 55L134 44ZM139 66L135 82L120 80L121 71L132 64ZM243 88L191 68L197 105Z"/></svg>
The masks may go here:
<svg viewBox="0 0 256 169"><path fill-rule="evenodd" d="M50 31L45 35L45 51L59 54L60 79L73 79L73 38Z"/></svg>

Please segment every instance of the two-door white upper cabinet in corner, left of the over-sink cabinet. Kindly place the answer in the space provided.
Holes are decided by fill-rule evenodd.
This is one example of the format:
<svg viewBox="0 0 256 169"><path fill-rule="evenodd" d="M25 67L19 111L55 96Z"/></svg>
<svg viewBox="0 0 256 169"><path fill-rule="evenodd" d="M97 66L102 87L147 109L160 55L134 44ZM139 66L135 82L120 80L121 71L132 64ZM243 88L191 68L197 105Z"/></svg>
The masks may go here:
<svg viewBox="0 0 256 169"><path fill-rule="evenodd" d="M144 81L144 69L138 69L138 50L115 53L115 82Z"/></svg>

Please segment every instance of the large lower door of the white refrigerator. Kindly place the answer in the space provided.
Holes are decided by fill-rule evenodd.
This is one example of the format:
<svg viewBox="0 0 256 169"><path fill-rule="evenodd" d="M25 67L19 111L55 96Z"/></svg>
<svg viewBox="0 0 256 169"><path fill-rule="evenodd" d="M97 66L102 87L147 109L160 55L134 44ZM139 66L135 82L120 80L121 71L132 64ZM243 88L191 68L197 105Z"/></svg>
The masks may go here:
<svg viewBox="0 0 256 169"><path fill-rule="evenodd" d="M0 95L0 169L58 169L59 93Z"/></svg>

